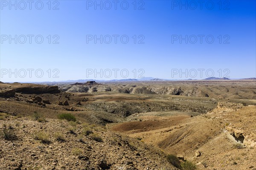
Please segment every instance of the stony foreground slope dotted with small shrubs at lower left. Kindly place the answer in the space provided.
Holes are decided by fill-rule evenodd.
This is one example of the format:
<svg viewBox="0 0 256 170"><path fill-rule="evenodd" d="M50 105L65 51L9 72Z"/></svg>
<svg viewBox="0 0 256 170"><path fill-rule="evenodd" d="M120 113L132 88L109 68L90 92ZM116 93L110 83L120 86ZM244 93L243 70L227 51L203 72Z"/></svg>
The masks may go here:
<svg viewBox="0 0 256 170"><path fill-rule="evenodd" d="M4 129L17 140L5 140ZM93 134L87 136L88 129ZM175 170L160 150L96 125L9 116L0 120L0 131L2 170Z"/></svg>

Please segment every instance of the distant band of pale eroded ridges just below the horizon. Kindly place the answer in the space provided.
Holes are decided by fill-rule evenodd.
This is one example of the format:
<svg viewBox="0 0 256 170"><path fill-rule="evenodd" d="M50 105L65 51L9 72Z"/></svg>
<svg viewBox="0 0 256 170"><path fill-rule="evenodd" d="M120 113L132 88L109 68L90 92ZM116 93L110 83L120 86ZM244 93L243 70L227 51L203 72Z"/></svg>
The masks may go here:
<svg viewBox="0 0 256 170"><path fill-rule="evenodd" d="M113 91L126 94L169 94L215 99L256 99L255 85L255 80L102 82L102 84L60 85L60 90L70 93Z"/></svg>

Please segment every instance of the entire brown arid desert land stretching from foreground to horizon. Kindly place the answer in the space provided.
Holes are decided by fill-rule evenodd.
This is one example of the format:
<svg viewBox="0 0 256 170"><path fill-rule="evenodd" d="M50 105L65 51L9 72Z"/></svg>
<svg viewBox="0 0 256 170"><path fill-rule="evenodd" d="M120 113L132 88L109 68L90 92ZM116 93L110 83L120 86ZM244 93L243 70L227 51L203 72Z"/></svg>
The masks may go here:
<svg viewBox="0 0 256 170"><path fill-rule="evenodd" d="M0 84L1 170L256 170L256 80Z"/></svg>

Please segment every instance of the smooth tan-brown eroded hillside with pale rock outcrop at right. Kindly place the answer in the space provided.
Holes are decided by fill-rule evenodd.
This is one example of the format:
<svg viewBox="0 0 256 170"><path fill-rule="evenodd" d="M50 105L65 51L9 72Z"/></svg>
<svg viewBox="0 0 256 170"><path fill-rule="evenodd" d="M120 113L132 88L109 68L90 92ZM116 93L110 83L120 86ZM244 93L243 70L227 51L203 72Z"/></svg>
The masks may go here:
<svg viewBox="0 0 256 170"><path fill-rule="evenodd" d="M115 125L121 131L165 153L182 155L201 169L255 169L256 106L219 102L206 114L191 117L138 114L142 121ZM198 156L198 151L200 156Z"/></svg>

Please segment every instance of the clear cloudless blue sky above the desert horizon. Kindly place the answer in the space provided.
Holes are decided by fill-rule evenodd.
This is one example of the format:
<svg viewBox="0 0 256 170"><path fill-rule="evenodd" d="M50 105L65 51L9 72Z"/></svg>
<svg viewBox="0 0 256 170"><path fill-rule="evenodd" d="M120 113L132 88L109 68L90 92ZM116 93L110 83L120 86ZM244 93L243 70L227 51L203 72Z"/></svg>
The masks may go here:
<svg viewBox="0 0 256 170"><path fill-rule="evenodd" d="M3 82L256 77L255 0L23 2L0 1Z"/></svg>

